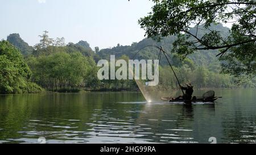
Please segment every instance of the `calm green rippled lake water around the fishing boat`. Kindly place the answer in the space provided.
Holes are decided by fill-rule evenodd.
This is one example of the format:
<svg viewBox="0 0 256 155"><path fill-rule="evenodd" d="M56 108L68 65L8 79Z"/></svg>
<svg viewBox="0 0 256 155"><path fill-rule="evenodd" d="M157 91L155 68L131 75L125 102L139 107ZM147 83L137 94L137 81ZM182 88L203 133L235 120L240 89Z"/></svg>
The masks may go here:
<svg viewBox="0 0 256 155"><path fill-rule="evenodd" d="M0 143L256 143L255 90L216 95L192 106L141 93L0 95Z"/></svg>

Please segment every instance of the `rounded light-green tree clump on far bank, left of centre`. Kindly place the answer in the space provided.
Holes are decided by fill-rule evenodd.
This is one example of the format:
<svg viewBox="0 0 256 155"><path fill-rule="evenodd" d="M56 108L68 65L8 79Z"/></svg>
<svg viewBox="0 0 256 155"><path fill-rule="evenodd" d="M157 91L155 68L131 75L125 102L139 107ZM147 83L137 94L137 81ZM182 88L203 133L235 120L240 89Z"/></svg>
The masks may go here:
<svg viewBox="0 0 256 155"><path fill-rule="evenodd" d="M92 73L97 70L96 63L79 52L57 52L49 56L29 57L27 62L34 73L32 81L49 90L79 89L85 83L97 83L94 80L97 77L93 77L97 73Z"/></svg>

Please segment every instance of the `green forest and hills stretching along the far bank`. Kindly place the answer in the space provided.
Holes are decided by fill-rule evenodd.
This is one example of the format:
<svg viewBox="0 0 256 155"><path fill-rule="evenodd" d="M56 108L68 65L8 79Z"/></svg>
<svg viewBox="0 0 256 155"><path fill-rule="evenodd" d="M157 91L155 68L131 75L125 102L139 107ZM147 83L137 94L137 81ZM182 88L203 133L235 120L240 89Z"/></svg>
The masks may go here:
<svg viewBox="0 0 256 155"><path fill-rule="evenodd" d="M203 27L203 26L202 26ZM222 35L229 28L222 24L212 25ZM191 33L195 32L192 28ZM0 42L0 93L38 93L40 91L78 92L81 90L138 90L135 81L104 80L97 78L97 62L110 59L156 59L159 50L148 45L163 47L167 52L173 47L176 36L163 37L160 41L147 38L131 45L94 50L86 41L65 44L64 37L52 39L48 32L40 35L34 47L29 46L18 33L11 34L7 41ZM138 53L138 51L140 51ZM168 52L172 65L182 83L192 82L197 89L255 87L256 80L236 83L236 78L221 73L218 51L200 51L184 58ZM165 58L160 61L159 89L177 89L177 82Z"/></svg>

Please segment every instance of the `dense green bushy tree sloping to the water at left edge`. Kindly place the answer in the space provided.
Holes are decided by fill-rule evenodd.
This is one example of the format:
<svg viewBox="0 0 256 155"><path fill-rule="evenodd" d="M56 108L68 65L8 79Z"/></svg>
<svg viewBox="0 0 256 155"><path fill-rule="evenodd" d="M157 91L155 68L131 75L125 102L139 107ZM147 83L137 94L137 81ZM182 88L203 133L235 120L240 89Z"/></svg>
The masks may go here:
<svg viewBox="0 0 256 155"><path fill-rule="evenodd" d="M0 41L0 93L38 93L39 86L30 83L32 73L18 49Z"/></svg>

